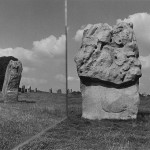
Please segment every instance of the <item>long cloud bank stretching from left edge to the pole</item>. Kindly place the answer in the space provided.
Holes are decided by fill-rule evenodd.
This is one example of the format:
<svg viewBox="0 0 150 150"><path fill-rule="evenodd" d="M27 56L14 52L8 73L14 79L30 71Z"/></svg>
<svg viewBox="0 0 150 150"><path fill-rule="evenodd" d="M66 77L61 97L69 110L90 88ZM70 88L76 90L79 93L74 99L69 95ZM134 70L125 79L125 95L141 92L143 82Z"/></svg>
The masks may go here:
<svg viewBox="0 0 150 150"><path fill-rule="evenodd" d="M41 54L46 57L54 57L57 55L63 55L65 53L65 35L61 35L56 38L54 35L40 41L34 41L31 50L23 47L16 48L0 48L0 57L2 56L14 56L19 60L38 61L42 57Z"/></svg>

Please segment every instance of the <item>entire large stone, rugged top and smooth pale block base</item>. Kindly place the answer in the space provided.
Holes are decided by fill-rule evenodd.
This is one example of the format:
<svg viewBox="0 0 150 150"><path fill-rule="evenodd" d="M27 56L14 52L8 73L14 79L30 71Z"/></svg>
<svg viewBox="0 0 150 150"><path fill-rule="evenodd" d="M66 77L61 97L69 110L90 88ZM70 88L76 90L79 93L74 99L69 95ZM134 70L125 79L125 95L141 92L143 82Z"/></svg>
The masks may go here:
<svg viewBox="0 0 150 150"><path fill-rule="evenodd" d="M135 119L141 63L133 24L95 24L84 30L75 62L80 77L82 117Z"/></svg>

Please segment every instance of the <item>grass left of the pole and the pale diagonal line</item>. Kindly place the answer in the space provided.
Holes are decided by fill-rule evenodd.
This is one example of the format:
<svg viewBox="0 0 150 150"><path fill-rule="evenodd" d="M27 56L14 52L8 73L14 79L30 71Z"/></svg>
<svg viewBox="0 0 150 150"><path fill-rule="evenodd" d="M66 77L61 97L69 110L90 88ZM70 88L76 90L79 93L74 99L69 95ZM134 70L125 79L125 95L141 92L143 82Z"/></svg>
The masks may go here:
<svg viewBox="0 0 150 150"><path fill-rule="evenodd" d="M17 103L0 103L0 150L9 150L65 117L65 95L19 94Z"/></svg>

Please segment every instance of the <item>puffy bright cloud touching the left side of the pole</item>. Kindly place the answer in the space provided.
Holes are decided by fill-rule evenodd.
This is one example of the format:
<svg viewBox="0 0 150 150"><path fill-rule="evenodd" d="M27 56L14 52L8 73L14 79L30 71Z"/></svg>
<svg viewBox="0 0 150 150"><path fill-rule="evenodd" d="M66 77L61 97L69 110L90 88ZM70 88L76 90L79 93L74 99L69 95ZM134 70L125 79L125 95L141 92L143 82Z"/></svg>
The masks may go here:
<svg viewBox="0 0 150 150"><path fill-rule="evenodd" d="M51 35L40 41L34 41L33 49L51 57L55 55L62 55L65 53L65 40L65 35L61 35L59 38Z"/></svg>

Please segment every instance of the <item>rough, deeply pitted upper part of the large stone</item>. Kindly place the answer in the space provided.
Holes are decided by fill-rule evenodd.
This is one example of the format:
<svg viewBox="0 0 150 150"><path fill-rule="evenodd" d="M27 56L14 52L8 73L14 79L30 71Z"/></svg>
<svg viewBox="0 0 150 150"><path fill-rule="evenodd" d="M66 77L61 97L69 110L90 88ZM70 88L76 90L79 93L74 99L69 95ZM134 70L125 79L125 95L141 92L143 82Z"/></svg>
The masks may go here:
<svg viewBox="0 0 150 150"><path fill-rule="evenodd" d="M138 57L132 23L100 23L85 28L75 62L79 77L122 84L141 77Z"/></svg>

